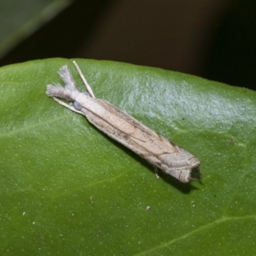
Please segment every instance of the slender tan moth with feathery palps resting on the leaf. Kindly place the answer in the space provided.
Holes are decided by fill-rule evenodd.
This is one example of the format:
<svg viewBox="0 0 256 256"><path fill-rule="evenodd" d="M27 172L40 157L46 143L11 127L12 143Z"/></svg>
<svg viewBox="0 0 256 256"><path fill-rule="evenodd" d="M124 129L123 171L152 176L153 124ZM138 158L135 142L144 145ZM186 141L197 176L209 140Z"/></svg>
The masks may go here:
<svg viewBox="0 0 256 256"><path fill-rule="evenodd" d="M79 92L70 70L65 65L58 72L65 87L60 84L47 84L47 96L53 97L66 108L86 116L100 131L152 163L156 173L157 168L160 168L181 182L196 180L191 177L191 173L195 170L201 174L200 161L197 157L141 124L107 100L96 99L76 61L73 63L88 92ZM56 97L72 101L74 106Z"/></svg>

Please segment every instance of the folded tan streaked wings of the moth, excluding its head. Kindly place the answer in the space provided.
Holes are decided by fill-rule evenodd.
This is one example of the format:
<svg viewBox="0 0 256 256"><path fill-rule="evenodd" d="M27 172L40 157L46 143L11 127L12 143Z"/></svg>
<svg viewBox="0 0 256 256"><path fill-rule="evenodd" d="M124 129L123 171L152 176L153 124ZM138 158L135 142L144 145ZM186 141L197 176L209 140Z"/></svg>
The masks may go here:
<svg viewBox="0 0 256 256"><path fill-rule="evenodd" d="M82 109L84 115L93 125L164 172L182 182L189 182L191 170L200 164L195 156L171 143L106 100L95 100L99 105L104 104L104 112L99 111L103 114L102 116L86 108Z"/></svg>

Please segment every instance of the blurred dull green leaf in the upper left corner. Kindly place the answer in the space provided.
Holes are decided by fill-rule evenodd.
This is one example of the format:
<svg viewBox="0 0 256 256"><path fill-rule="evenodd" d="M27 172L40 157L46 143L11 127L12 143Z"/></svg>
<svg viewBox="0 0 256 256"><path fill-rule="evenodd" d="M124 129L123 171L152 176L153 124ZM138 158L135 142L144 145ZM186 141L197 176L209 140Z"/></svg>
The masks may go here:
<svg viewBox="0 0 256 256"><path fill-rule="evenodd" d="M72 0L1 0L0 58L71 3Z"/></svg>

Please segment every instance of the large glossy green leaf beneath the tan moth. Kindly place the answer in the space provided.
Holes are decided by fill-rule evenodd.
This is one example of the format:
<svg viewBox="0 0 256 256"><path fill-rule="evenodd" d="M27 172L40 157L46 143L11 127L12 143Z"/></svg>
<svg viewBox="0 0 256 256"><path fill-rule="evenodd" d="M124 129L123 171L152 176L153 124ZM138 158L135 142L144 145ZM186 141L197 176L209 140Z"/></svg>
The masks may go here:
<svg viewBox="0 0 256 256"><path fill-rule="evenodd" d="M1 255L252 255L256 93L77 60L106 99L202 161L182 184L45 95L71 60L0 68ZM150 206L150 209L146 209Z"/></svg>

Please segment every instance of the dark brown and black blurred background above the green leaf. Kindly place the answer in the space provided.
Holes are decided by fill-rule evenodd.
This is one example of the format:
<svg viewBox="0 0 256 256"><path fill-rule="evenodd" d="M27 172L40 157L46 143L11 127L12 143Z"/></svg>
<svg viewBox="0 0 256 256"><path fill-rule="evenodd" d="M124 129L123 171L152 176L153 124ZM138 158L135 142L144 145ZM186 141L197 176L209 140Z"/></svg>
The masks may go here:
<svg viewBox="0 0 256 256"><path fill-rule="evenodd" d="M93 58L256 89L255 0L76 0L0 60Z"/></svg>

